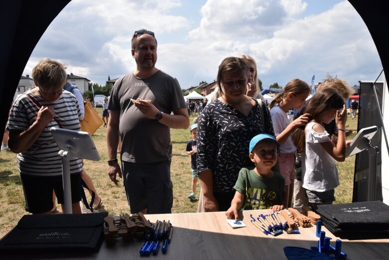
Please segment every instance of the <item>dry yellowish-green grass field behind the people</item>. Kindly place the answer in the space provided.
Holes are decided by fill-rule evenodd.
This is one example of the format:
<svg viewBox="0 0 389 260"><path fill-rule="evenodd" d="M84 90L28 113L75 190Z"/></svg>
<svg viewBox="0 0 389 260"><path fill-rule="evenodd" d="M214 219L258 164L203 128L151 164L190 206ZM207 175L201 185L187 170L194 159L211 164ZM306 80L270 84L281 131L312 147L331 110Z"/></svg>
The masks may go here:
<svg viewBox="0 0 389 260"><path fill-rule="evenodd" d="M101 108L97 108L101 113ZM193 117L191 117L191 122ZM357 121L347 121L347 129L355 133L349 137L352 139L357 130ZM84 161L84 168L91 176L98 194L103 200L102 211L109 215L129 213L123 182L119 186L108 178L107 174L107 145L106 128L100 127L93 140L101 156L99 162ZM197 211L197 202L190 202L187 198L191 192L190 156L185 153L186 142L190 140L189 130L172 129L171 141L173 144L173 156L171 163L171 179L173 182L173 213L188 213ZM119 155L118 155L119 158ZM338 163L341 185L335 189L337 201L335 203L349 203L352 201L353 178L355 156L351 156L343 163ZM196 195L200 191L197 184ZM88 194L87 194L88 195ZM60 207L59 207L60 208ZM60 210L60 209L59 209ZM24 196L17 170L16 154L9 151L0 153L0 238L16 226L19 219L28 214L24 211Z"/></svg>

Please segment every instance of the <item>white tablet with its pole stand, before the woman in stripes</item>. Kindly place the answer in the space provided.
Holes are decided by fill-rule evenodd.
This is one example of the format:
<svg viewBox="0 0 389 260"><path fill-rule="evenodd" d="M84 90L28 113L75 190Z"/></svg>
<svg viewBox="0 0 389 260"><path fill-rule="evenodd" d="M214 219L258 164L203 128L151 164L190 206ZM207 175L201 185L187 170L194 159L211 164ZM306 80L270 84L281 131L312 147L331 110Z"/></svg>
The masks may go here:
<svg viewBox="0 0 389 260"><path fill-rule="evenodd" d="M77 157L92 161L99 161L100 155L96 150L92 137L87 132L78 132L63 128L50 128L60 151L62 160L63 194L66 214L72 214L72 195L70 187L70 159Z"/></svg>

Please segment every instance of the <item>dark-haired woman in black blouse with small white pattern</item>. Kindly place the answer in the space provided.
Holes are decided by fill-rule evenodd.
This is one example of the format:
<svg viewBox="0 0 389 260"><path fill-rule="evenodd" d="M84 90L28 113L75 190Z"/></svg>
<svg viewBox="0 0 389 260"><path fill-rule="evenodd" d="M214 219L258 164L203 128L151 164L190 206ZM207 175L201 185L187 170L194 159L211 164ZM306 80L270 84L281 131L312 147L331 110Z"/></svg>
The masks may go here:
<svg viewBox="0 0 389 260"><path fill-rule="evenodd" d="M249 68L241 58L225 58L217 76L221 97L208 104L200 116L197 172L203 198L199 212L226 211L231 206L240 169L254 167L248 157L250 140L262 132L274 136L265 103L260 108L256 99L245 95L248 73Z"/></svg>

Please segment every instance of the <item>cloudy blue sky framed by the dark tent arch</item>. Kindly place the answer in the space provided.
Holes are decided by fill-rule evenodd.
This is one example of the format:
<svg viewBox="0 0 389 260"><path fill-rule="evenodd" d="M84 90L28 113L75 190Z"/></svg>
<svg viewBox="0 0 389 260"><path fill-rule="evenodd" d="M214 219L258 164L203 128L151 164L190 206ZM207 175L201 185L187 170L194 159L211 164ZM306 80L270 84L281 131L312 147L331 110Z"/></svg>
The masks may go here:
<svg viewBox="0 0 389 260"><path fill-rule="evenodd" d="M252 56L264 88L327 74L375 80L382 64L361 16L347 0L72 0L49 25L23 75L42 58L105 85L136 67L135 30L155 32L156 67L181 88L211 83L228 56Z"/></svg>

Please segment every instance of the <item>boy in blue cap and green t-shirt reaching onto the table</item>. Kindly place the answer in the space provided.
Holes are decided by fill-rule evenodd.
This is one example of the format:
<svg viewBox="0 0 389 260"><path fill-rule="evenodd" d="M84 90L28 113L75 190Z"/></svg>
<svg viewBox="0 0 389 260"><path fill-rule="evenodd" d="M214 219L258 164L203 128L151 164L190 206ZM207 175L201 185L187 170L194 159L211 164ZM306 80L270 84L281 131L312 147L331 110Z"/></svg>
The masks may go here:
<svg viewBox="0 0 389 260"><path fill-rule="evenodd" d="M236 190L231 207L227 210L228 219L239 219L238 210L283 209L285 179L271 171L278 158L279 144L274 136L259 134L250 141L249 157L256 167L253 170L242 168L234 186Z"/></svg>

